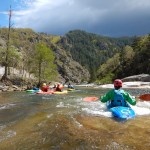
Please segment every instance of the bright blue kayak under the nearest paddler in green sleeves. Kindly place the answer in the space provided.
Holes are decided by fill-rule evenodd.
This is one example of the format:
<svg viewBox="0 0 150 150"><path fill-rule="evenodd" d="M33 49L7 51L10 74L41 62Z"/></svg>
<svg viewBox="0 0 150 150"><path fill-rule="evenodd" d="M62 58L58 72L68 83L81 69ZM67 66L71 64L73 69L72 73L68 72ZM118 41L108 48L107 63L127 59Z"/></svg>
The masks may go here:
<svg viewBox="0 0 150 150"><path fill-rule="evenodd" d="M117 117L119 119L130 119L135 117L134 110L129 106L117 106L117 107L111 107L111 103L108 101L106 103L107 108L112 112L112 115L114 117Z"/></svg>

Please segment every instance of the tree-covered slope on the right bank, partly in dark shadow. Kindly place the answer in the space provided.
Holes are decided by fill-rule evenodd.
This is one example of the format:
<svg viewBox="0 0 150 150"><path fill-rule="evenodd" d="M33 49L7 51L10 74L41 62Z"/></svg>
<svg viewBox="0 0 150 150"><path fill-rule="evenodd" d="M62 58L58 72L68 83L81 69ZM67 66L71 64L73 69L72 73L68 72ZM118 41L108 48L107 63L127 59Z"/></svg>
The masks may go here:
<svg viewBox="0 0 150 150"><path fill-rule="evenodd" d="M138 37L131 46L123 47L106 63L100 65L98 80L110 82L115 78L150 73L150 35Z"/></svg>

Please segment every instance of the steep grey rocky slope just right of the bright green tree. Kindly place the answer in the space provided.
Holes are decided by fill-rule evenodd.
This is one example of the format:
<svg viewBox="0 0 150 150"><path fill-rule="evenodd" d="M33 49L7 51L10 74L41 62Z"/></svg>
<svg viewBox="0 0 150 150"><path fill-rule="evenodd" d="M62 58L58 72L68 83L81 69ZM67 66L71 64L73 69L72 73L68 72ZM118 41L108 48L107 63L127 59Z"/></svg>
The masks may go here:
<svg viewBox="0 0 150 150"><path fill-rule="evenodd" d="M55 50L55 56L58 72L64 82L81 83L89 81L89 71L78 62L74 61L69 52L66 53L65 50L57 48Z"/></svg>

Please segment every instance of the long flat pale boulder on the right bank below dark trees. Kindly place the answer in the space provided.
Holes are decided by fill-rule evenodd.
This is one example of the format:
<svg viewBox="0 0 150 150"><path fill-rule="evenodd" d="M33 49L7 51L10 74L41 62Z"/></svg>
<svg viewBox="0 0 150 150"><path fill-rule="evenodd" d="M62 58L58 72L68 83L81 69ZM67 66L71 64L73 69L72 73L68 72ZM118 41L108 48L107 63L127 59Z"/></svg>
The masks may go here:
<svg viewBox="0 0 150 150"><path fill-rule="evenodd" d="M129 76L122 79L123 82L129 81L142 81L142 82L150 82L150 75L149 74L139 74L134 76Z"/></svg>

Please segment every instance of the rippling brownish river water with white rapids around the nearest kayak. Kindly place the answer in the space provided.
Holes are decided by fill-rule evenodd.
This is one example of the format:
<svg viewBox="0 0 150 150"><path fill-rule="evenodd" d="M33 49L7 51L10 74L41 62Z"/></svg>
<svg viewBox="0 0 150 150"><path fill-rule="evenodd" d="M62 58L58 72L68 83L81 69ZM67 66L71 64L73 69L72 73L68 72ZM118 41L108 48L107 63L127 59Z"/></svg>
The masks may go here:
<svg viewBox="0 0 150 150"><path fill-rule="evenodd" d="M149 150L150 102L137 99L134 119L115 119L100 101L109 89L76 87L64 95L0 94L0 150ZM126 89L131 95L150 89Z"/></svg>

